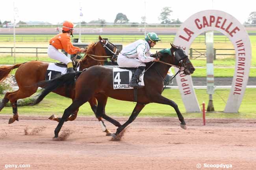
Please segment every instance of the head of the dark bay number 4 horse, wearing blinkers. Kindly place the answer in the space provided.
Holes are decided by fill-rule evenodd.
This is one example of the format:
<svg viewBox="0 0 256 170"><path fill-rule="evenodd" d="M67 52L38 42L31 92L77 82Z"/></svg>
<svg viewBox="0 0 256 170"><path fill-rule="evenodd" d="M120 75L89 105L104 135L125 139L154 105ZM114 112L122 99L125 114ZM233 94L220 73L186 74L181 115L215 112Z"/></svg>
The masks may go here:
<svg viewBox="0 0 256 170"><path fill-rule="evenodd" d="M185 75L193 74L195 68L191 61L189 60L188 56L186 55L184 49L171 44L171 56L173 57L174 65L179 66L181 71L184 71Z"/></svg>

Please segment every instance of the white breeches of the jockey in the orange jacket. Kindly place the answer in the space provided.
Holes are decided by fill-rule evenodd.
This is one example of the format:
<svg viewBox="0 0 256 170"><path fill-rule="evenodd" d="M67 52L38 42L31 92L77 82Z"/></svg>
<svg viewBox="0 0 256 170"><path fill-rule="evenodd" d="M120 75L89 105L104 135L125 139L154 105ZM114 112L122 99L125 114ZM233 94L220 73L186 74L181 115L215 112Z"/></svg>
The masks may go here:
<svg viewBox="0 0 256 170"><path fill-rule="evenodd" d="M54 60L58 60L60 62L63 62L65 64L68 64L69 62L72 62L69 57L67 57L65 54L61 53L58 49L56 49L54 46L49 45L47 54L50 58Z"/></svg>

